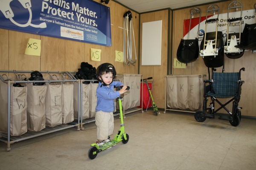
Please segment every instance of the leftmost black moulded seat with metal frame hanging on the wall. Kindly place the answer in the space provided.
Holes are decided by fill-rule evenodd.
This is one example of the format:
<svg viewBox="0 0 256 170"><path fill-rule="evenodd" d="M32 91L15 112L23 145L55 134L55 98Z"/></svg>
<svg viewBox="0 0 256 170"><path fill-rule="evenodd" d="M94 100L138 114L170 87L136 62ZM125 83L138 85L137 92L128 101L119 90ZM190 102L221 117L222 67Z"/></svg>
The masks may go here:
<svg viewBox="0 0 256 170"><path fill-rule="evenodd" d="M193 14L200 14L199 23L198 23L198 32L197 38L189 40L189 33L188 33L188 40L180 40L180 45L177 49L177 60L183 63L194 62L198 59L199 55L199 46L198 46L198 34L199 34L199 27L200 27L200 20L201 20L201 9L200 8L192 8L190 10L190 22L189 22L189 33L190 33L190 26Z"/></svg>

